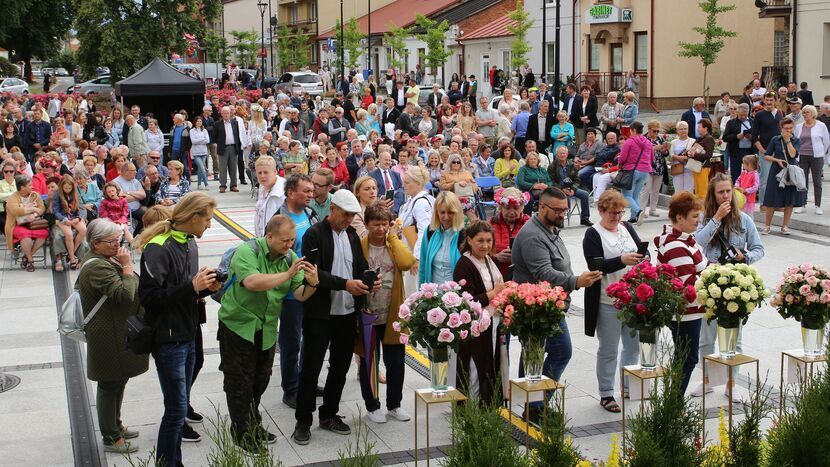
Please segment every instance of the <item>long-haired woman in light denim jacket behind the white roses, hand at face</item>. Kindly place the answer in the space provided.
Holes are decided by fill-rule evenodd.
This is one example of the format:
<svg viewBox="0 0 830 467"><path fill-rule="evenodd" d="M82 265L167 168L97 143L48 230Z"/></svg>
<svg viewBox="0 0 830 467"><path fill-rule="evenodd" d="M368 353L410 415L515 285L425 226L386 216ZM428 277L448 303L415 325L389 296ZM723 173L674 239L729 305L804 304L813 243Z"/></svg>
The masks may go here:
<svg viewBox="0 0 830 467"><path fill-rule="evenodd" d="M732 179L727 174L718 173L709 180L709 189L703 202L703 221L695 232L695 241L703 249L703 256L710 263L746 263L753 264L764 257L764 245L755 227L752 217L738 209L732 188ZM700 360L715 352L717 320L702 323L700 326ZM738 331L738 351L742 347L742 335ZM733 369L737 376L737 368ZM706 392L712 386L706 382ZM724 389L729 396L729 388ZM703 395L703 383L692 390L692 396ZM732 397L739 401L741 395L732 392Z"/></svg>

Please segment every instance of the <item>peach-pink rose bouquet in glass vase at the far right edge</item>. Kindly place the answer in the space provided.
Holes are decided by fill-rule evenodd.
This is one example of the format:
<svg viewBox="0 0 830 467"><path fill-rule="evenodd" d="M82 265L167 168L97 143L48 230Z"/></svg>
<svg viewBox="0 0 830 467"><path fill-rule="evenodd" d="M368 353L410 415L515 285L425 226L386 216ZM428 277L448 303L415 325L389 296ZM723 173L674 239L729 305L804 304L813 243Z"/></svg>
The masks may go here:
<svg viewBox="0 0 830 467"><path fill-rule="evenodd" d="M801 323L804 355L818 356L824 349L824 327L830 321L830 273L822 266L791 266L775 288L770 304L783 318Z"/></svg>

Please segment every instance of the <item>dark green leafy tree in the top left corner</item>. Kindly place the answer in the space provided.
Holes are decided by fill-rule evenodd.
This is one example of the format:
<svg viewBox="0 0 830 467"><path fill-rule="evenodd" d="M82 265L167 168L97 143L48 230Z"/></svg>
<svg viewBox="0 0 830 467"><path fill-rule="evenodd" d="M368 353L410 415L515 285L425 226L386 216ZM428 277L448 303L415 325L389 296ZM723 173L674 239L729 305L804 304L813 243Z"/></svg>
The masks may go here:
<svg viewBox="0 0 830 467"><path fill-rule="evenodd" d="M13 61L25 62L24 76L31 80L32 58L57 55L74 16L71 0L3 0L0 47L12 52Z"/></svg>

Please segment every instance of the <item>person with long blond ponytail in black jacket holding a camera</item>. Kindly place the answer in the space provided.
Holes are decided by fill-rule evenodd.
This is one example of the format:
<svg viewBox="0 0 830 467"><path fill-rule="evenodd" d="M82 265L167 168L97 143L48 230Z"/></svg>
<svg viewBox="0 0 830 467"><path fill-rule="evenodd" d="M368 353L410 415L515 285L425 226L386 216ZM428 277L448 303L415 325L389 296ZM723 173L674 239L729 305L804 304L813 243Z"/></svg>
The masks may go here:
<svg viewBox="0 0 830 467"><path fill-rule="evenodd" d="M204 301L219 290L213 269L199 268L200 238L210 227L216 200L203 192L185 195L173 217L141 233L138 296L154 332L152 355L164 398L156 459L176 467L182 462L182 432L190 403L196 362L196 337L205 322ZM197 438L198 439L198 438Z"/></svg>

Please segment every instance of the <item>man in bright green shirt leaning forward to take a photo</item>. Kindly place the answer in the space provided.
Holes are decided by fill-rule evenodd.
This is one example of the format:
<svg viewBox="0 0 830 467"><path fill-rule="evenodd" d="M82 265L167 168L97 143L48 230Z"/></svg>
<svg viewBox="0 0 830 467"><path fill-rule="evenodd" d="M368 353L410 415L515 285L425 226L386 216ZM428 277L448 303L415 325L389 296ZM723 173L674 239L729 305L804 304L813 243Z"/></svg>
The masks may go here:
<svg viewBox="0 0 830 467"><path fill-rule="evenodd" d="M231 260L231 284L219 308L219 370L234 441L257 452L276 435L262 428L259 401L271 379L282 301L289 292L305 301L317 289L317 267L291 250L296 240L289 217L268 221L265 237L240 245Z"/></svg>

